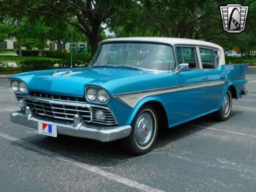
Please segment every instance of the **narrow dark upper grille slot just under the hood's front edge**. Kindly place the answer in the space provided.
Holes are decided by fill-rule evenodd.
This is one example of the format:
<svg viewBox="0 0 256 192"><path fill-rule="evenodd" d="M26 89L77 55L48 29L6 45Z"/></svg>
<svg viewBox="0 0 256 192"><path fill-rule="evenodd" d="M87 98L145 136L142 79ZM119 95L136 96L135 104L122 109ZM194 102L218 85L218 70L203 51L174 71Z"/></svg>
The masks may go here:
<svg viewBox="0 0 256 192"><path fill-rule="evenodd" d="M31 95L33 97L44 98L44 99L86 102L84 97L72 97L72 96L64 96L64 95L53 95L53 94L41 93L41 92L30 92L29 95Z"/></svg>

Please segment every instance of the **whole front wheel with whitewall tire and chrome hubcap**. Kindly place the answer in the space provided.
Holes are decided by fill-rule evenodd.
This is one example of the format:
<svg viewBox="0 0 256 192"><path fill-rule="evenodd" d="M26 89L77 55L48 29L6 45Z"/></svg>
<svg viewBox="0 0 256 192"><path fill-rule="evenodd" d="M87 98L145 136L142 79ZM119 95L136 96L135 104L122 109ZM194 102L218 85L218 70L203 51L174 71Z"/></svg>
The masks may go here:
<svg viewBox="0 0 256 192"><path fill-rule="evenodd" d="M149 152L156 141L158 116L152 106L143 106L132 121L132 131L122 145L131 154L141 155Z"/></svg>

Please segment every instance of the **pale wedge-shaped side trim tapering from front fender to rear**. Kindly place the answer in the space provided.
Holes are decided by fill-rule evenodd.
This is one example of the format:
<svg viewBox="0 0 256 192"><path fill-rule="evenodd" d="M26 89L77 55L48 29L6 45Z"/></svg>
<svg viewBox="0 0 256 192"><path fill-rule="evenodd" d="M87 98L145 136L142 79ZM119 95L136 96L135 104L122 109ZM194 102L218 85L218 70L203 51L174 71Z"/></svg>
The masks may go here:
<svg viewBox="0 0 256 192"><path fill-rule="evenodd" d="M202 88L202 87L208 87L208 86L215 86L218 84L224 84L225 81L213 81L213 82L207 82L207 83L198 83L198 84L188 84L184 86L173 86L170 88L161 88L161 89L155 89L155 90L144 90L141 92L130 92L130 93L120 93L115 94L113 97L120 102L123 102L127 106L130 106L131 108L134 108L138 102L148 96L152 95L160 95L164 93L172 93L172 92L180 92L184 90L190 90L195 88Z"/></svg>

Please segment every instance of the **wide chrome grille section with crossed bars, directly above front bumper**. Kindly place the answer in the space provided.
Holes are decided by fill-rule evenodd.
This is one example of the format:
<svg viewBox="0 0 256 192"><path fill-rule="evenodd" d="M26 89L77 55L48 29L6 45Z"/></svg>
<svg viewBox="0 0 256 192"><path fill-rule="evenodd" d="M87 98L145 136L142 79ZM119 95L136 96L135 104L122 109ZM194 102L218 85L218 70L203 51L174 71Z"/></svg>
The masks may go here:
<svg viewBox="0 0 256 192"><path fill-rule="evenodd" d="M74 120L74 115L79 114L83 116L83 119L86 122L91 121L89 108L72 106L69 104L52 104L47 101L33 99L25 99L25 102L26 106L29 106L29 108L35 110L33 112L36 113L36 115L49 116L52 118L72 121Z"/></svg>

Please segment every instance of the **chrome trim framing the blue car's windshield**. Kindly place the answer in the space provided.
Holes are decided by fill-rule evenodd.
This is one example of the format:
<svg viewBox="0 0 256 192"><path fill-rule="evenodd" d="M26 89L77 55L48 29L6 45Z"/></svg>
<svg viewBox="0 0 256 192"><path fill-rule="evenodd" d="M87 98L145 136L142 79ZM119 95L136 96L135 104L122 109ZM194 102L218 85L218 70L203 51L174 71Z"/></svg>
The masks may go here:
<svg viewBox="0 0 256 192"><path fill-rule="evenodd" d="M137 68L141 68L141 70L148 70L148 71L152 71L152 72L175 72L178 70L178 65L177 65L177 56L176 56L176 51L174 49L174 45L173 44L168 44L168 43L164 43L164 42L153 42L153 41L144 41L144 40L109 40L107 42L99 42L99 48L97 49L97 51L95 52L95 54L92 57L92 60L90 61L88 67L93 67L92 65L92 61L93 58L99 53L100 47L103 44L124 44L124 43L129 43L129 44L159 44L159 45L167 45L169 47L172 47L172 51L173 51L173 56L174 56L174 60L175 60L175 67L173 70L154 70L154 69L148 69L148 68L141 68L141 67L137 67ZM100 66L100 65L98 65ZM105 65L106 66L106 65ZM117 66L118 67L118 66Z"/></svg>

